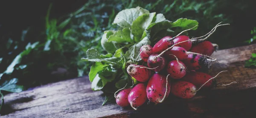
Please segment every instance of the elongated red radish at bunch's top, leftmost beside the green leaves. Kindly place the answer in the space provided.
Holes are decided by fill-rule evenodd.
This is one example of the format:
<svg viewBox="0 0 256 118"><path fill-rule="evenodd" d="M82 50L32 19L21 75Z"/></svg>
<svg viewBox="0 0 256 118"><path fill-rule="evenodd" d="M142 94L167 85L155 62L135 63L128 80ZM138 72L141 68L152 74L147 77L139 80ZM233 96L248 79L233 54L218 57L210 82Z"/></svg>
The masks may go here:
<svg viewBox="0 0 256 118"><path fill-rule="evenodd" d="M166 50L167 48L171 47L174 43L173 41L168 41L169 39L171 39L172 37L170 36L166 36L163 37L162 39L160 39L153 47L153 53L161 53L164 50Z"/></svg>

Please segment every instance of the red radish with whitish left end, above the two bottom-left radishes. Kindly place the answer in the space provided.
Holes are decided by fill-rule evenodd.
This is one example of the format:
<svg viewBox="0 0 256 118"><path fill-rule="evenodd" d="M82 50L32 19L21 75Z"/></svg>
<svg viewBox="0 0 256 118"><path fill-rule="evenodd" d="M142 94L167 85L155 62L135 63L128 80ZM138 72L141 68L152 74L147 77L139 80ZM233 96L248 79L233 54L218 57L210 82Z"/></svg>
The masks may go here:
<svg viewBox="0 0 256 118"><path fill-rule="evenodd" d="M151 70L143 65L129 65L127 67L127 73L140 82L148 81L152 74Z"/></svg>

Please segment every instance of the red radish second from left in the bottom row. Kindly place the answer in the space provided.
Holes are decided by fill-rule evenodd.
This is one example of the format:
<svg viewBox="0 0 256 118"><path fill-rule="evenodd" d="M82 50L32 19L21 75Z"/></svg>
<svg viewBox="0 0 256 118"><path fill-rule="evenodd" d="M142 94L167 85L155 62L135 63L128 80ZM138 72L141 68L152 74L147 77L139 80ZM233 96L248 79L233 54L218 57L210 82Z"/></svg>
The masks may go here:
<svg viewBox="0 0 256 118"><path fill-rule="evenodd" d="M139 83L131 89L128 95L128 101L134 110L135 107L140 107L147 100L146 86L144 83Z"/></svg>

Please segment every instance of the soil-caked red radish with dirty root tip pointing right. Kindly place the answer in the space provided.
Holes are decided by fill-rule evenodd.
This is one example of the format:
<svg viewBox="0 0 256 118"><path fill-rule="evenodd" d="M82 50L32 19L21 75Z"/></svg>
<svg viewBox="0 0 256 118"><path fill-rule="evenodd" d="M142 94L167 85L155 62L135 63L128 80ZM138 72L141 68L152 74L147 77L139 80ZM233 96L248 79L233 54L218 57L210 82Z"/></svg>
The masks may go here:
<svg viewBox="0 0 256 118"><path fill-rule="evenodd" d="M188 70L198 70L202 67L209 68L212 64L211 62L215 61L216 59L207 59L205 56L198 55L198 54L189 54L188 58L183 60L184 64L186 65Z"/></svg>

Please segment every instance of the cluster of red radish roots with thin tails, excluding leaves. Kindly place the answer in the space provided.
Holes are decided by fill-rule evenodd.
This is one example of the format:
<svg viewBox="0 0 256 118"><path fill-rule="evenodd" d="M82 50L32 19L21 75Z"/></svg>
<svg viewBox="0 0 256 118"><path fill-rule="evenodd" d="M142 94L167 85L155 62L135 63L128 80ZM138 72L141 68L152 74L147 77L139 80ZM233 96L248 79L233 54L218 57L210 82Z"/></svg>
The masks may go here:
<svg viewBox="0 0 256 118"><path fill-rule="evenodd" d="M131 64L127 67L128 74L139 84L121 90L115 95L116 103L121 107L131 105L136 110L147 99L155 104L162 103L170 92L179 98L192 98L201 87L210 87L212 76L198 70L209 68L216 60L210 56L218 45L204 40L218 26L221 25L202 37L190 39L180 35L181 32L175 37L163 37L153 48L143 45L140 57L147 66ZM192 45L193 42L196 43Z"/></svg>

